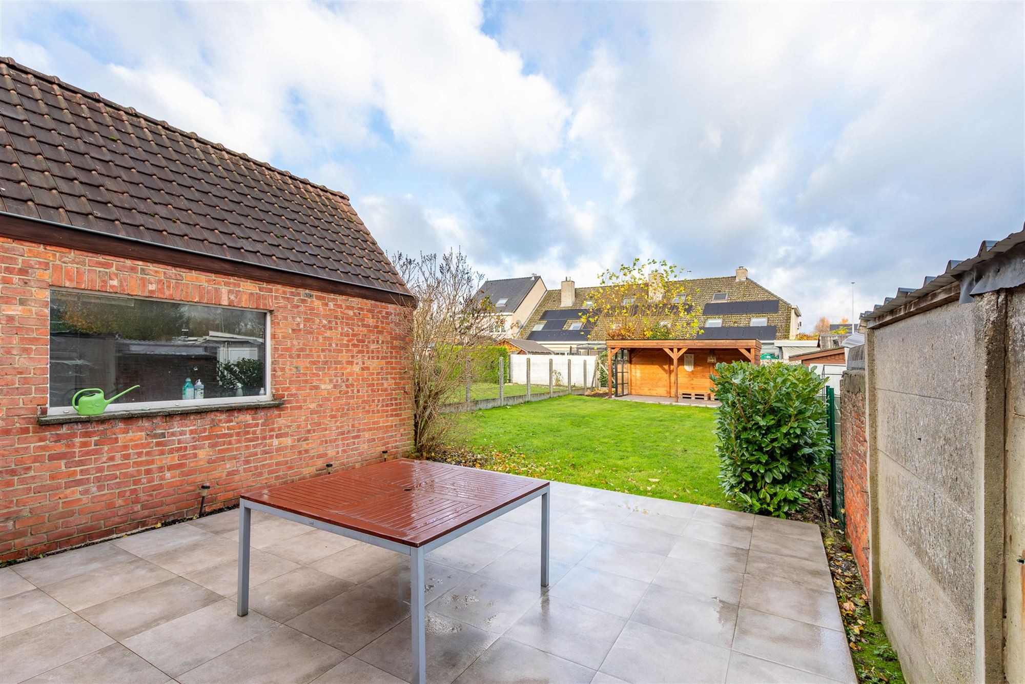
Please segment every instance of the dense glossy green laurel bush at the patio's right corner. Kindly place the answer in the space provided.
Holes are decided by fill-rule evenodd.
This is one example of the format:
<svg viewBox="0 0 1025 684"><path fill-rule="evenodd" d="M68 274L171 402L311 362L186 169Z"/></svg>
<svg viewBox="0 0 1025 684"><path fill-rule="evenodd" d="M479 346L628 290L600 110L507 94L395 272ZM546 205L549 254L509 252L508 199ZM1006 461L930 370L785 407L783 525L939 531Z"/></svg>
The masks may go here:
<svg viewBox="0 0 1025 684"><path fill-rule="evenodd" d="M743 510L785 518L827 479L825 380L784 363L720 363L715 373L720 485Z"/></svg>

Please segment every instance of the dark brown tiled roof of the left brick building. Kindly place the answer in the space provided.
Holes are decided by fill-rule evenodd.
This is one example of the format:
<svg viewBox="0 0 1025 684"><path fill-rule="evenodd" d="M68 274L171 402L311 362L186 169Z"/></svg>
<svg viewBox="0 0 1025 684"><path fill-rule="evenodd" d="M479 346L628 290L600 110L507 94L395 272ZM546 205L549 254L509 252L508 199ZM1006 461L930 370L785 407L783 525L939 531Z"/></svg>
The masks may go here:
<svg viewBox="0 0 1025 684"><path fill-rule="evenodd" d="M408 295L348 197L0 57L0 209Z"/></svg>

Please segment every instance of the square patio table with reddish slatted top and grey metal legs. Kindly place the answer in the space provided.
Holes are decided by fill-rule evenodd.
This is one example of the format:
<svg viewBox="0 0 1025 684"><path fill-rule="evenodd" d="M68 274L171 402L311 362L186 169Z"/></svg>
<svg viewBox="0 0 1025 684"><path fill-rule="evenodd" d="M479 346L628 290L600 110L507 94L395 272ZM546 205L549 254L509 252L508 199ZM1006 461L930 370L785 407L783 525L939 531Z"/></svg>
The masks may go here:
<svg viewBox="0 0 1025 684"><path fill-rule="evenodd" d="M544 480L397 458L243 494L239 499L238 613L249 612L252 511L409 556L412 681L423 684L424 555L538 496L541 587L547 587L549 485Z"/></svg>

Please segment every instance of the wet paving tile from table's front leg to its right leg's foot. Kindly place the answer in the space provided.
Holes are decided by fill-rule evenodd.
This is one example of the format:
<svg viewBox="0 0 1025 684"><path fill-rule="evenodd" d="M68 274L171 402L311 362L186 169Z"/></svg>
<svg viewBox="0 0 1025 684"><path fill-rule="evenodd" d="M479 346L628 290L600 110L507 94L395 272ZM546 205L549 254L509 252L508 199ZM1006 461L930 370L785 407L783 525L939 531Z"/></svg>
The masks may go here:
<svg viewBox="0 0 1025 684"><path fill-rule="evenodd" d="M501 634L529 608L540 594L497 579L471 575L432 601L432 611L460 622Z"/></svg>

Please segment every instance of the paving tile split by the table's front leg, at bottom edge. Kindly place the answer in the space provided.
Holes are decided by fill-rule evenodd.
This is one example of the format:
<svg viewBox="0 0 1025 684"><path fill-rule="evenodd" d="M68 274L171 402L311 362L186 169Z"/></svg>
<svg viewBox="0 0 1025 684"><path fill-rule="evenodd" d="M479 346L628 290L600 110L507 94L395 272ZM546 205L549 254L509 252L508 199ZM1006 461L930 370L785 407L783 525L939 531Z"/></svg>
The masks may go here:
<svg viewBox="0 0 1025 684"><path fill-rule="evenodd" d="M497 635L471 625L439 615L425 614L427 681L448 684L490 646ZM413 676L412 629L409 618L396 625L356 656L404 681Z"/></svg>

